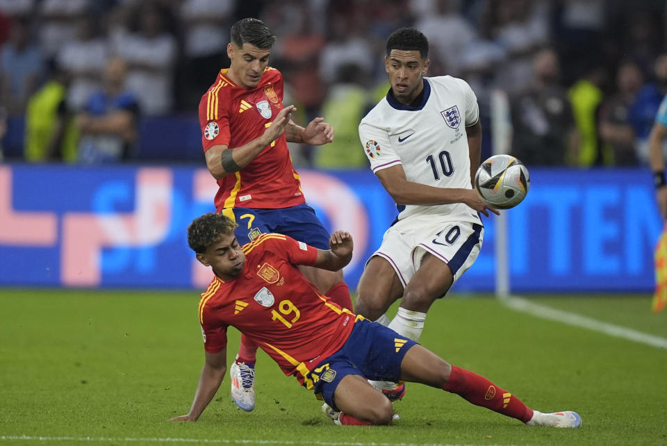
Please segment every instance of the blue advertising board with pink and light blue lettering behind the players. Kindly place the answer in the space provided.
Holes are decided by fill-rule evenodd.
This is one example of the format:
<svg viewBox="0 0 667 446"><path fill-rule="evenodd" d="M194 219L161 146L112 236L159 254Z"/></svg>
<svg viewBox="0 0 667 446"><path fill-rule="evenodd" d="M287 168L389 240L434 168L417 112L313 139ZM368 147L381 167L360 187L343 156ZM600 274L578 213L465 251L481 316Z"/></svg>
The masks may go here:
<svg viewBox="0 0 667 446"><path fill-rule="evenodd" d="M661 230L645 170L541 170L509 215L513 291L643 291L653 287ZM369 171L301 172L331 229L354 236L345 270L356 288L396 210ZM0 166L0 285L201 288L186 228L213 211L216 183L195 167ZM456 290L493 290L494 217Z"/></svg>

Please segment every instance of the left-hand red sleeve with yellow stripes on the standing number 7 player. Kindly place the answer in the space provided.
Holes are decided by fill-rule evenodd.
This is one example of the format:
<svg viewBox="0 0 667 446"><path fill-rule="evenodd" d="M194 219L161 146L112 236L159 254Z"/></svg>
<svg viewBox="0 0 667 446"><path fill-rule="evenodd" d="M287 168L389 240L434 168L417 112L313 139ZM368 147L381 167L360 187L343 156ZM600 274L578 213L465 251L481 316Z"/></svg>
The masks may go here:
<svg viewBox="0 0 667 446"><path fill-rule="evenodd" d="M204 151L219 144L229 146L229 113L227 95L217 88L208 90L199 101L199 127L201 128L201 146Z"/></svg>

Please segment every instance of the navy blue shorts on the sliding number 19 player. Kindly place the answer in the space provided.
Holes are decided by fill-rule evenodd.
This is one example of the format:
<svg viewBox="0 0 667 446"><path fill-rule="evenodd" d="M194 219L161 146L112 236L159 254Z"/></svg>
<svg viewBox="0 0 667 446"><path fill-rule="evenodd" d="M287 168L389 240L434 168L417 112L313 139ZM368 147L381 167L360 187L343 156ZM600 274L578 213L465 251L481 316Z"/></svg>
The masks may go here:
<svg viewBox="0 0 667 446"><path fill-rule="evenodd" d="M397 382L403 357L416 344L382 324L359 320L345 345L313 367L306 378L313 382L315 395L321 395L338 411L334 391L343 377L359 374L367 379Z"/></svg>

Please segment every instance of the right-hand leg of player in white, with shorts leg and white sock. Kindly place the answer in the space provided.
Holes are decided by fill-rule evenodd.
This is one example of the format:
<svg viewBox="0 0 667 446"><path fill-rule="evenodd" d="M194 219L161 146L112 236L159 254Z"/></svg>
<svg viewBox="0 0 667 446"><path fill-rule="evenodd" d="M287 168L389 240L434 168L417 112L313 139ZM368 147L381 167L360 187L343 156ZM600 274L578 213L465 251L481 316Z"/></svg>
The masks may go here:
<svg viewBox="0 0 667 446"><path fill-rule="evenodd" d="M483 236L481 225L456 222L419 242L412 253L415 274L389 328L418 340L431 304L475 262Z"/></svg>

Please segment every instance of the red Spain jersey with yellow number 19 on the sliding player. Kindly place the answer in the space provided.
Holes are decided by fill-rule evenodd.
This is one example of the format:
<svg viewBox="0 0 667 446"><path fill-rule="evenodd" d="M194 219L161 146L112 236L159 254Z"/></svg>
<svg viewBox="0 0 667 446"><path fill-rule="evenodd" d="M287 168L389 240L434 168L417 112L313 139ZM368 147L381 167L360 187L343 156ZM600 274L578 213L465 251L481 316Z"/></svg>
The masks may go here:
<svg viewBox="0 0 667 446"><path fill-rule="evenodd" d="M215 276L201 295L204 349L222 351L231 325L303 385L312 367L343 347L358 316L320 295L295 266L315 263L314 247L266 233L242 250L246 258L239 276L231 281Z"/></svg>

